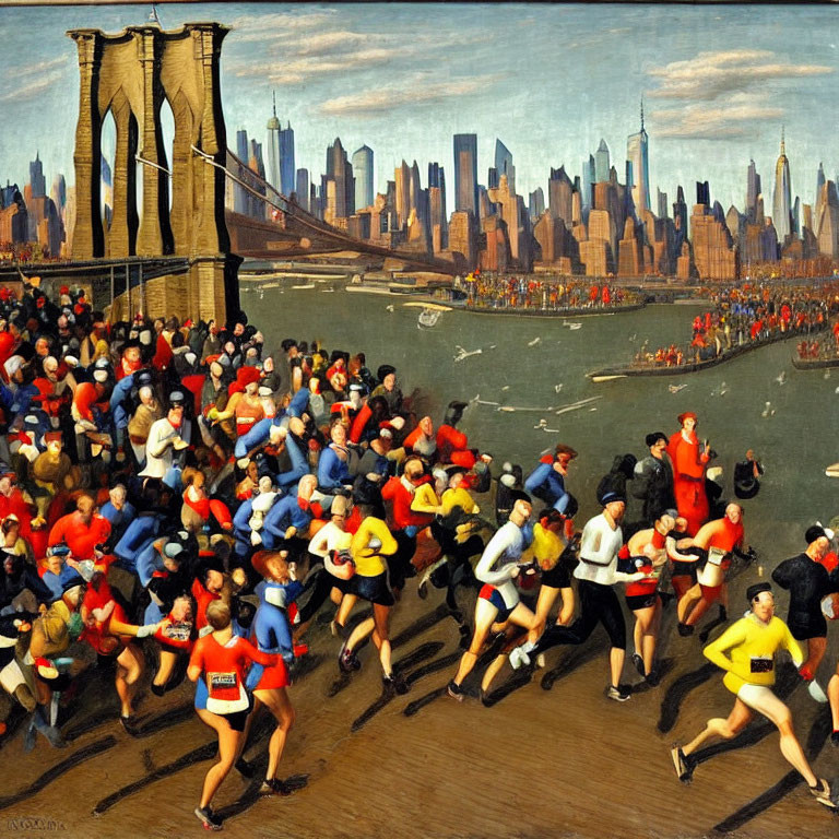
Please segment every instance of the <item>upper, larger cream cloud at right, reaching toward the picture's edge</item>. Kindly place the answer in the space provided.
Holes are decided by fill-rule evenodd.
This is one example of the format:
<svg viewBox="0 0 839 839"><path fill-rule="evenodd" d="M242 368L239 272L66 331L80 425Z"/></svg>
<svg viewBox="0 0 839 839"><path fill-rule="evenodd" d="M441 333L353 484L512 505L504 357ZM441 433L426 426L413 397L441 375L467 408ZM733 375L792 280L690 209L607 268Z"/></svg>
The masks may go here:
<svg viewBox="0 0 839 839"><path fill-rule="evenodd" d="M804 79L832 73L824 64L792 63L766 49L699 52L686 61L652 68L648 74L660 86L648 92L651 98L710 102L725 94L754 90L769 81Z"/></svg>

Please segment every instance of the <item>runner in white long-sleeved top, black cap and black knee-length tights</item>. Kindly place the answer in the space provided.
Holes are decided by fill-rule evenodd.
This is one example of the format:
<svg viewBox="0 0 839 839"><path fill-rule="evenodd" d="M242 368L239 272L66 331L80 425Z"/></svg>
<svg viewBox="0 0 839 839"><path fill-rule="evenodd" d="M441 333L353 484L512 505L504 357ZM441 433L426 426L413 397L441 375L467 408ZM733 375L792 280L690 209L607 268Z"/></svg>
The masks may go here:
<svg viewBox="0 0 839 839"><path fill-rule="evenodd" d="M571 626L552 626L537 643L527 642L513 650L510 663L513 666L529 663L530 655L537 655L560 643L582 643L594 627L602 623L612 643L608 652L612 681L606 696L624 702L629 698L629 693L621 687L626 657L626 625L621 601L612 587L616 582L643 579L647 575L617 570L617 553L624 543L621 521L626 509L626 497L619 492L607 489L599 500L603 505L603 512L586 523L580 542L580 564L574 571L579 580L580 616Z"/></svg>

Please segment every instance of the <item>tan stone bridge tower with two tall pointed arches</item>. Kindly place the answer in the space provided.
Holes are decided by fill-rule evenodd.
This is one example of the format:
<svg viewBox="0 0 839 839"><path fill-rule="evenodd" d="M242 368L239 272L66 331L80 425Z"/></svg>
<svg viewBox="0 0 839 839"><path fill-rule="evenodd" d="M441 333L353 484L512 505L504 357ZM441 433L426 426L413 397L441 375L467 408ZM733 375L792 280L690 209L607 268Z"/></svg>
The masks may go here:
<svg viewBox="0 0 839 839"><path fill-rule="evenodd" d="M227 32L217 23L187 23L172 32L156 25L129 26L116 35L99 29L68 32L79 49L81 74L73 258L187 258L187 274L147 284L144 299L151 316L224 320L238 310L240 259L229 252L225 175L191 149L220 166L226 163L218 59ZM164 101L175 120L172 162L161 129ZM106 229L99 201L102 127L108 111L114 115L117 143L114 212ZM141 212L138 155L145 162Z"/></svg>

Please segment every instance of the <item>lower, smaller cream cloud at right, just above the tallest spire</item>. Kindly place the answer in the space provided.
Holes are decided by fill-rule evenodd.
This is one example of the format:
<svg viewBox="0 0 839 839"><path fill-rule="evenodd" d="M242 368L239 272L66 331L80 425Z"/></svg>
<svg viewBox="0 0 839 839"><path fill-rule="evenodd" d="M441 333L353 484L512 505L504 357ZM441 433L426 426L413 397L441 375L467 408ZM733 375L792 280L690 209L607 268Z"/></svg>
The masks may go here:
<svg viewBox="0 0 839 839"><path fill-rule="evenodd" d="M650 120L658 138L729 140L754 135L755 122L778 120L783 115L783 108L764 104L764 97L752 101L738 94L712 106L697 103L653 110Z"/></svg>

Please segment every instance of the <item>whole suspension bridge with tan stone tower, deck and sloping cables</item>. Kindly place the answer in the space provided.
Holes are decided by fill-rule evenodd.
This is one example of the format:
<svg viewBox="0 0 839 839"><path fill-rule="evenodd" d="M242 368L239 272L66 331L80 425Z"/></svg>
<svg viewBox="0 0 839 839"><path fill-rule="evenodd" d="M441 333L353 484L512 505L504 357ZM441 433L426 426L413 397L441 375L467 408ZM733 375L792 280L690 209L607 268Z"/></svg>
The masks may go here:
<svg viewBox="0 0 839 839"><path fill-rule="evenodd" d="M387 260L394 269L454 274L456 263L377 246L333 227L276 191L227 147L220 59L228 32L212 22L176 31L150 24L118 34L68 32L80 70L72 260L29 263L25 276L87 287L94 307L109 307L111 319L142 310L151 317L225 320L239 309L238 274L247 260L264 265L350 251ZM164 103L175 123L170 161ZM109 114L116 155L107 224L101 170ZM225 205L234 184L268 204L264 220ZM0 267L0 283L21 277L17 267Z"/></svg>

